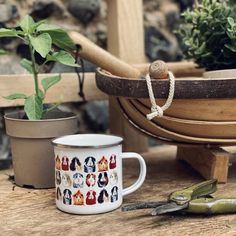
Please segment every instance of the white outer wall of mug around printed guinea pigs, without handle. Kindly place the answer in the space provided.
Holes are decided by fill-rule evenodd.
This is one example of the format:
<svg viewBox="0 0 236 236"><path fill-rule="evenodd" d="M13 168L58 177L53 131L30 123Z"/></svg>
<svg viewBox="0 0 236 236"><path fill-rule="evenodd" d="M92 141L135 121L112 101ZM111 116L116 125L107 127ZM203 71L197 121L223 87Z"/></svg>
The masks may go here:
<svg viewBox="0 0 236 236"><path fill-rule="evenodd" d="M121 145L115 146L115 147L109 147L109 148L86 148L86 149L69 149L69 148L62 148L62 147L55 147L55 157L59 156L60 160L62 160L63 157L68 158L68 163L72 162L72 159L74 157L78 157L81 164L82 164L82 169L81 170L75 170L75 171L64 171L64 170L57 170L60 171L61 175L61 184L59 185L58 182L56 181L56 191L57 187L60 188L61 193L62 193L62 198L60 200L56 199L56 205L57 207L65 212L68 213L74 213L74 214L97 214L97 213L103 213L107 211L112 211L116 208L118 208L122 204L122 159L121 157ZM110 169L108 168L107 171L98 171L98 161L104 156L109 163L109 159L111 155L116 155L116 168ZM90 173L85 172L84 166L85 166L85 159L87 157L94 157L96 159L96 171L92 172L91 174L95 174L96 180L94 182L91 181L92 184L95 183L94 186L88 186L86 179L87 176ZM70 165L70 164L69 164ZM69 167L70 169L70 167ZM112 176L116 175L113 172L117 173L118 181L113 181L114 179ZM98 177L100 173L107 173L108 176L108 184L105 187L99 187L98 185ZM78 181L78 178L74 178L75 174L82 174L83 175L83 185L74 187L74 181L76 181L78 184L81 183L81 181ZM69 176L70 181L64 180L67 179ZM88 178L89 180L89 178ZM71 182L71 183L68 183ZM111 202L111 191L113 187L118 187L118 200ZM73 204L73 194L75 194L78 190L83 194L84 197L84 205L66 205L63 203L63 192L64 190L70 190L72 193L72 204ZM98 196L100 192L105 189L108 193L108 201L104 203L98 203ZM87 193L89 191L94 191L96 193L96 204L94 205L86 205L86 198L87 198Z"/></svg>

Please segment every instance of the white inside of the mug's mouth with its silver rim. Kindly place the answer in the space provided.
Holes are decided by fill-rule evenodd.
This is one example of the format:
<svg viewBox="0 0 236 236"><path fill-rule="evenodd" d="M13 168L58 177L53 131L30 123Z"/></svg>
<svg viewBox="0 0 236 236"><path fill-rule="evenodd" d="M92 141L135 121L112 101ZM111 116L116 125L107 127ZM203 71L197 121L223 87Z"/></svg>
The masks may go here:
<svg viewBox="0 0 236 236"><path fill-rule="evenodd" d="M122 142L122 138L103 134L75 134L57 138L54 144L76 147L110 146Z"/></svg>

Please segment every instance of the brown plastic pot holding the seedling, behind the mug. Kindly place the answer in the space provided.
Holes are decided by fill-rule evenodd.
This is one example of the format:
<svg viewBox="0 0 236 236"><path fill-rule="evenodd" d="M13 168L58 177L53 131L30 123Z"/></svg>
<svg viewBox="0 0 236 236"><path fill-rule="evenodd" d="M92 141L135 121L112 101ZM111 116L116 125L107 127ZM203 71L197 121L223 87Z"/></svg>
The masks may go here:
<svg viewBox="0 0 236 236"><path fill-rule="evenodd" d="M73 113L55 111L44 120L23 119L24 112L5 115L10 136L15 183L22 187L55 187L51 140L77 131Z"/></svg>

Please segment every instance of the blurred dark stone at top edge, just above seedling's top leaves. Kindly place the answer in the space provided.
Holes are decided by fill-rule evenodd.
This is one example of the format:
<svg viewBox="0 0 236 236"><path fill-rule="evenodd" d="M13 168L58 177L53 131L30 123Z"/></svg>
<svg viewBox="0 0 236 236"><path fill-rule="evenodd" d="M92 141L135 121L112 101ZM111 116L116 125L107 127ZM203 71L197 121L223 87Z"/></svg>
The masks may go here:
<svg viewBox="0 0 236 236"><path fill-rule="evenodd" d="M33 3L31 16L36 20L42 20L51 16L61 17L63 8L55 0L36 0Z"/></svg>

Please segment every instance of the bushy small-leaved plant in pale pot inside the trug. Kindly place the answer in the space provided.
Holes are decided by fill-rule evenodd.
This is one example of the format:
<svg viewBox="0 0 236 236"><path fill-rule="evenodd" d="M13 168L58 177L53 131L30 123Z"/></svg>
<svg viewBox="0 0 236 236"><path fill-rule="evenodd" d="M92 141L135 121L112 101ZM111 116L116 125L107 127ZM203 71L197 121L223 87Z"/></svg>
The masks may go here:
<svg viewBox="0 0 236 236"><path fill-rule="evenodd" d="M182 16L178 31L186 46L187 59L206 68L204 77L236 75L236 8L234 0L195 1ZM223 71L222 71L223 70ZM208 72L210 71L210 72Z"/></svg>

